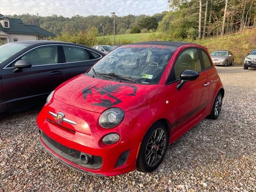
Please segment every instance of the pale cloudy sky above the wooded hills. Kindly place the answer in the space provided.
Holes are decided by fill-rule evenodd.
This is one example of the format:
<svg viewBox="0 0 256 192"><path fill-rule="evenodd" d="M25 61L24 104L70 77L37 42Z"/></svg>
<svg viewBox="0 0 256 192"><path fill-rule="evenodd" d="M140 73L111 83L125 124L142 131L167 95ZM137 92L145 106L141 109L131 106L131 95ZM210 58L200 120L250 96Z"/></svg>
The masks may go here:
<svg viewBox="0 0 256 192"><path fill-rule="evenodd" d="M168 0L0 0L0 13L3 15L110 16L110 12L116 12L117 16L125 16L154 15L165 10L168 10Z"/></svg>

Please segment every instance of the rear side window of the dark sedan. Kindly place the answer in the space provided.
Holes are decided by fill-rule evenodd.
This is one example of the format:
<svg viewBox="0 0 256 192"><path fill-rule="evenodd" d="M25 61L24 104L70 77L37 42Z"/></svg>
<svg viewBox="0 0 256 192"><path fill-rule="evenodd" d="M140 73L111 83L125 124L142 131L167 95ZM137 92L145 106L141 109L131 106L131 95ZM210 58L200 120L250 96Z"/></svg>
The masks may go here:
<svg viewBox="0 0 256 192"><path fill-rule="evenodd" d="M90 60L89 54L83 48L63 46L66 62L78 62Z"/></svg>

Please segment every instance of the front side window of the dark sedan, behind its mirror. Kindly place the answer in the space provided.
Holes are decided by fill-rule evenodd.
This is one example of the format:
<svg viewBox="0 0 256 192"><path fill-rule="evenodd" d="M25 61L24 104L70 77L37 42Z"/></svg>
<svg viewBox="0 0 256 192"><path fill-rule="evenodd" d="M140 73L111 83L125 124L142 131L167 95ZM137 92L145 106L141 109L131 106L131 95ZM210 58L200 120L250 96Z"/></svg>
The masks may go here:
<svg viewBox="0 0 256 192"><path fill-rule="evenodd" d="M36 48L20 59L29 61L32 66L36 65L48 65L48 64L57 64L58 63L58 47L57 46L42 46ZM12 64L12 67L14 67Z"/></svg>

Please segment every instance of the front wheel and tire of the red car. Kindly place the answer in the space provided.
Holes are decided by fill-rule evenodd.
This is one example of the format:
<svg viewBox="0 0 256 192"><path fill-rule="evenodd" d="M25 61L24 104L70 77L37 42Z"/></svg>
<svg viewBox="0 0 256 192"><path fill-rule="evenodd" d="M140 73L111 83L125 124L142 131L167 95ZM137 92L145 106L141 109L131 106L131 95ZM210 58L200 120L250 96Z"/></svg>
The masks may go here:
<svg viewBox="0 0 256 192"><path fill-rule="evenodd" d="M142 172L152 172L162 162L169 137L162 122L154 123L144 136L137 159L137 168Z"/></svg>

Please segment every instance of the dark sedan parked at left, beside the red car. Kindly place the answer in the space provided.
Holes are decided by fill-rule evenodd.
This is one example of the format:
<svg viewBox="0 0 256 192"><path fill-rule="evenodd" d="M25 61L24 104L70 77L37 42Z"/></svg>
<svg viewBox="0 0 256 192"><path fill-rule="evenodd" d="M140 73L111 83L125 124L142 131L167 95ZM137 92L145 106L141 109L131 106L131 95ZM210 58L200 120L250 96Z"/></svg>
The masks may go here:
<svg viewBox="0 0 256 192"><path fill-rule="evenodd" d="M46 101L62 82L86 72L105 54L55 41L18 41L0 46L0 114Z"/></svg>

